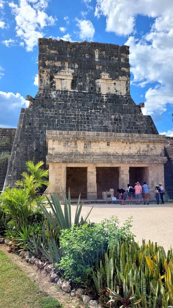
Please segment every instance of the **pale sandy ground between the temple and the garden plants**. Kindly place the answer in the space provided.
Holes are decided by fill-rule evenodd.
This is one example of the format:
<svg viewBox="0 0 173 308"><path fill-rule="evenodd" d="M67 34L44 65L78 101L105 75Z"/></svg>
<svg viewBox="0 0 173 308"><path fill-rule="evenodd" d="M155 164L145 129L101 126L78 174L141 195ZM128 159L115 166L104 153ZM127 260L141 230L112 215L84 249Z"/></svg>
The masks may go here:
<svg viewBox="0 0 173 308"><path fill-rule="evenodd" d="M84 204L82 216L89 212L93 204ZM72 205L72 217L75 215L76 205ZM100 222L112 215L118 216L120 225L130 216L133 216L132 232L136 241L141 244L142 239L162 245L167 252L173 246L173 203L155 205L120 205L120 204L94 204L89 219Z"/></svg>

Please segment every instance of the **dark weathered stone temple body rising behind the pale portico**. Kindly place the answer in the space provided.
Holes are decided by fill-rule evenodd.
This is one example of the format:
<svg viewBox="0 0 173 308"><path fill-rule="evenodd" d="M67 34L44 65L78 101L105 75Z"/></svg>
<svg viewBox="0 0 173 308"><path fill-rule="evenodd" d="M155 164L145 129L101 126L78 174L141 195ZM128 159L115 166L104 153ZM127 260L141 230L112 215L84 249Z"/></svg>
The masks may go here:
<svg viewBox="0 0 173 308"><path fill-rule="evenodd" d="M25 161L46 166L47 130L158 134L130 96L128 56L128 46L39 39L39 89L21 109L5 187Z"/></svg>

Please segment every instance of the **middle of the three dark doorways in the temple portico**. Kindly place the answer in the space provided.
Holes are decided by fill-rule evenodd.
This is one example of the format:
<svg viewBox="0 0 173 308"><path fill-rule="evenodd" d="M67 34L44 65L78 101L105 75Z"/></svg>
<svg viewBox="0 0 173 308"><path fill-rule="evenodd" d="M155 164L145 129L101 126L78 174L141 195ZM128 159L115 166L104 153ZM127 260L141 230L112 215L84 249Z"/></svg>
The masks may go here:
<svg viewBox="0 0 173 308"><path fill-rule="evenodd" d="M102 192L114 188L114 197L118 197L119 168L118 167L96 167L97 199L102 198Z"/></svg>

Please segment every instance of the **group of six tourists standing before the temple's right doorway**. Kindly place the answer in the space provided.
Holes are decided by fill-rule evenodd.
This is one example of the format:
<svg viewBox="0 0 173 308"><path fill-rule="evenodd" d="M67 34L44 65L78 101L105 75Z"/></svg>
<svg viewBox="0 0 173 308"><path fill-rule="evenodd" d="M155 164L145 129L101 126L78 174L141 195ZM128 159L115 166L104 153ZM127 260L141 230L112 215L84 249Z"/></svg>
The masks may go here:
<svg viewBox="0 0 173 308"><path fill-rule="evenodd" d="M159 204L159 195L160 195L162 204L164 204L163 183L160 182L159 184L155 184L155 190L154 191L155 191L155 198L156 198L157 204ZM134 188L132 186L130 186L130 184L127 184L126 190L124 190L123 188L121 188L121 189L118 188L117 192L119 192L121 199L122 199L121 205L126 204L127 196L129 197L129 204L133 204L133 195L135 195L136 204L140 204L140 201L142 199L142 193L143 193L143 204L146 204L146 202L147 202L147 205L149 205L150 188L148 187L146 182L143 182L142 186L139 182L136 182Z"/></svg>

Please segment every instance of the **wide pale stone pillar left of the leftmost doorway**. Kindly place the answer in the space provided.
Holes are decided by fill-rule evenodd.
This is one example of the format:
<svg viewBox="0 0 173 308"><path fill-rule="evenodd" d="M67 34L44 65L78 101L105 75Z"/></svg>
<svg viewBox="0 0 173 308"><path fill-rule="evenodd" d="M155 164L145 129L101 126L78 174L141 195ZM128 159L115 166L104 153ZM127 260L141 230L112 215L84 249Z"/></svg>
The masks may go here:
<svg viewBox="0 0 173 308"><path fill-rule="evenodd" d="M49 164L49 182L48 192L56 192L62 200L62 190L66 193L66 166Z"/></svg>

